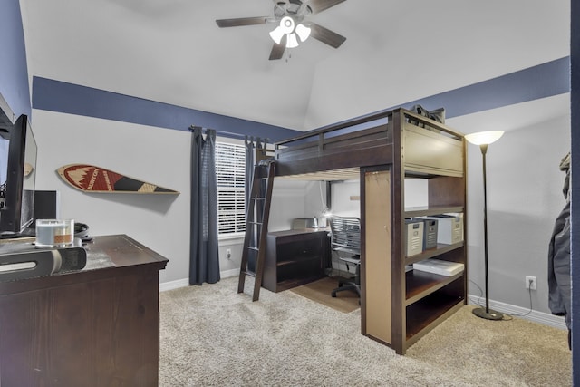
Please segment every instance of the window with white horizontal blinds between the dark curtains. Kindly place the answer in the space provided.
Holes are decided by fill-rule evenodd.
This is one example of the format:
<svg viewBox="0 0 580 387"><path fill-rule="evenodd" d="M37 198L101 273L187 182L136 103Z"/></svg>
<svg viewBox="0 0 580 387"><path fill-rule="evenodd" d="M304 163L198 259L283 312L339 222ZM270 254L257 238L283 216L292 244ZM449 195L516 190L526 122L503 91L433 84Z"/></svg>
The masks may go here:
<svg viewBox="0 0 580 387"><path fill-rule="evenodd" d="M246 231L244 178L246 147L216 142L218 178L218 234L232 235Z"/></svg>

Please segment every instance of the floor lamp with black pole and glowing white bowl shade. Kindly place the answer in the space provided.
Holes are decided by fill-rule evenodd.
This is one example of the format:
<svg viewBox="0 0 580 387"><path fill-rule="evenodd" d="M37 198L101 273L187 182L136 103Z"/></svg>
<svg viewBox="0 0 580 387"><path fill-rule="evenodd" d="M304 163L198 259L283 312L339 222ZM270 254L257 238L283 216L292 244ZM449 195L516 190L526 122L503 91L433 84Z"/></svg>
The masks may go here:
<svg viewBox="0 0 580 387"><path fill-rule="evenodd" d="M501 320L504 315L489 309L489 280L488 280L488 188L486 177L486 153L488 145L499 140L504 131L478 131L477 133L467 134L465 140L474 145L479 145L481 156L483 157L483 247L486 269L486 307L483 306L473 309L473 314L487 320Z"/></svg>

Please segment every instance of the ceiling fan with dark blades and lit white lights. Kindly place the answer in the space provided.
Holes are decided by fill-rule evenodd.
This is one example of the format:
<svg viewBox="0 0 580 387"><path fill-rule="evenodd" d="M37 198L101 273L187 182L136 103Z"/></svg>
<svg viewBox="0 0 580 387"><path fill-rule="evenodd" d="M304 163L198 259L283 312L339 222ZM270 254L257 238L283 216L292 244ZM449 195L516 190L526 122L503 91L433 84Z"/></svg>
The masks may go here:
<svg viewBox="0 0 580 387"><path fill-rule="evenodd" d="M338 48L346 38L308 20L310 15L318 14L345 0L274 0L274 16L241 17L237 19L218 19L219 27L239 27L275 23L278 26L270 32L274 40L270 60L280 59L286 48L297 47L309 36Z"/></svg>

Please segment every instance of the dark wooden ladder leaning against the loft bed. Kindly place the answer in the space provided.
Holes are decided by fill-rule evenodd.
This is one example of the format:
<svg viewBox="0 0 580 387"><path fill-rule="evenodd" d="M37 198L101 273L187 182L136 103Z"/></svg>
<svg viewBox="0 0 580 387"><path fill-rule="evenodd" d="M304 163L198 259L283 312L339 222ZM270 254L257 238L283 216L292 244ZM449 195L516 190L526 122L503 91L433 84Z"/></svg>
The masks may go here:
<svg viewBox="0 0 580 387"><path fill-rule="evenodd" d="M237 293L244 293L246 276L255 277L252 301L257 301L260 297L262 286L274 176L275 160L261 160L254 166L254 178L247 202L244 250L237 284Z"/></svg>

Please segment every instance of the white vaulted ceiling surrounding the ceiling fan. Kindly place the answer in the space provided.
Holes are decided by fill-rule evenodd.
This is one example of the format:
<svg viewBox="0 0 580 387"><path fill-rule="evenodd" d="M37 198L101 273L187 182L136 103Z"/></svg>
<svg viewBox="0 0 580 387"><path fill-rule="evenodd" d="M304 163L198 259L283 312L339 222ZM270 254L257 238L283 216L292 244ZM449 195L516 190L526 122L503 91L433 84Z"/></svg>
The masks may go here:
<svg viewBox="0 0 580 387"><path fill-rule="evenodd" d="M275 25L215 23L273 15L272 0L20 3L31 77L300 131L570 53L569 0L347 0L311 18L346 42L309 39L287 61L268 61Z"/></svg>

